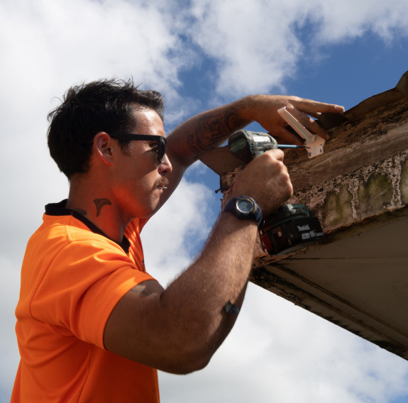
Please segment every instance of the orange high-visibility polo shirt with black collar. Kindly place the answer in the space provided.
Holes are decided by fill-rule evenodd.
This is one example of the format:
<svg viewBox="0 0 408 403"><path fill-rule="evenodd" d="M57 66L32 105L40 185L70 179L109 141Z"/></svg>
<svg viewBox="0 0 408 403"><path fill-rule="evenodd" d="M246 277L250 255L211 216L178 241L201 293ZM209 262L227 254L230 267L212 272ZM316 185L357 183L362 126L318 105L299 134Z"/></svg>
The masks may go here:
<svg viewBox="0 0 408 403"><path fill-rule="evenodd" d="M111 241L65 202L48 204L21 269L16 334L21 361L11 402L159 402L157 371L104 349L116 303L145 272L133 220Z"/></svg>

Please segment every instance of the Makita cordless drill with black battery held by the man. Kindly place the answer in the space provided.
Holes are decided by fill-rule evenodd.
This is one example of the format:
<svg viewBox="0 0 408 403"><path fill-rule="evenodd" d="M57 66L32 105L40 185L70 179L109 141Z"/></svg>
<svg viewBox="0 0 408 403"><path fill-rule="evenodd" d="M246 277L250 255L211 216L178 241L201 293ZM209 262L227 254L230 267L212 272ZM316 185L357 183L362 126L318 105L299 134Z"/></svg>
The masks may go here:
<svg viewBox="0 0 408 403"><path fill-rule="evenodd" d="M278 145L267 133L239 130L228 138L231 154L248 164L258 155L275 148L305 148L302 145ZM284 255L316 243L323 238L319 219L303 204L284 204L265 218L260 228L260 240L270 255Z"/></svg>

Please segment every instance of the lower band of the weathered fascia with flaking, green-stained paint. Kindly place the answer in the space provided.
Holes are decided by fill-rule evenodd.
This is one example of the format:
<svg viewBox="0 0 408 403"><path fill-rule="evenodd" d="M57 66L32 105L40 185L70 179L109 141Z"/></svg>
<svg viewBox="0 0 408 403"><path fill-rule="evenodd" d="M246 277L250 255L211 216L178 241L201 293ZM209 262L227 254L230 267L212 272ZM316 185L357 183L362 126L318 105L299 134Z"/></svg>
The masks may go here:
<svg viewBox="0 0 408 403"><path fill-rule="evenodd" d="M375 165L338 175L294 194L291 203L306 204L325 231L399 209L408 199L408 151Z"/></svg>

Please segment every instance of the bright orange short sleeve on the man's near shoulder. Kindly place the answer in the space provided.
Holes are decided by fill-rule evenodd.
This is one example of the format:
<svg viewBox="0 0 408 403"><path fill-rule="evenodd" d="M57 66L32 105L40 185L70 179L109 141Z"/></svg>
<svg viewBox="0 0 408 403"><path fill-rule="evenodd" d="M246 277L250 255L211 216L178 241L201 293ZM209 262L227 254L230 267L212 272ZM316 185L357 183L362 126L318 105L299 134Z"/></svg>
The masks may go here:
<svg viewBox="0 0 408 403"><path fill-rule="evenodd" d="M103 238L103 237L102 237ZM136 262L137 263L137 262ZM50 263L31 302L36 319L104 348L106 321L131 288L154 280L114 242L70 242Z"/></svg>

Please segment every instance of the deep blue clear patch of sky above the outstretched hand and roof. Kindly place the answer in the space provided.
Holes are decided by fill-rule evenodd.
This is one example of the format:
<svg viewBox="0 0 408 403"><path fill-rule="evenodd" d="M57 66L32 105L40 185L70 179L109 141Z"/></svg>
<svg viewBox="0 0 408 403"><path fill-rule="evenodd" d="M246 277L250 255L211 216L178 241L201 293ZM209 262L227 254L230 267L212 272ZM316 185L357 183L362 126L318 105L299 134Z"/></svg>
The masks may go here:
<svg viewBox="0 0 408 403"><path fill-rule="evenodd" d="M406 37L390 43L373 33L321 49L327 52L321 62L304 63L299 75L290 79L289 92L312 99L327 99L346 109L369 96L395 87L407 69Z"/></svg>

